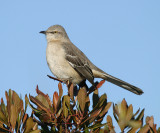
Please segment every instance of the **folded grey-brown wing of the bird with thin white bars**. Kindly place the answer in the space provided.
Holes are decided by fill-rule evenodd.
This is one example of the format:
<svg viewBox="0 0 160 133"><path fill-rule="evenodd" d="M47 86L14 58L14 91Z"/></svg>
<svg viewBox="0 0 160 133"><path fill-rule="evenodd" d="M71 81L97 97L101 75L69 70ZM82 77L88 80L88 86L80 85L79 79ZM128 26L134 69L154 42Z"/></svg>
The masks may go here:
<svg viewBox="0 0 160 133"><path fill-rule="evenodd" d="M64 43L65 58L69 64L90 83L94 84L93 73L89 66L86 56L73 44Z"/></svg>

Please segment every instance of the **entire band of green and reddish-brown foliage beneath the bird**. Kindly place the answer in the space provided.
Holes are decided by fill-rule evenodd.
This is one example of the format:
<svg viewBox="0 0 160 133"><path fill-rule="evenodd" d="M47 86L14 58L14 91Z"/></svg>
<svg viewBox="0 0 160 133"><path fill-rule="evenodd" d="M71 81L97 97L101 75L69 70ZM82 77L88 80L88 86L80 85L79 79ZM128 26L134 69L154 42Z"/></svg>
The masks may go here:
<svg viewBox="0 0 160 133"><path fill-rule="evenodd" d="M59 82L59 92L53 93L52 100L36 88L37 96L25 96L25 102L16 92L5 93L6 105L1 99L0 132L4 133L115 133L113 121L107 115L112 102L107 101L107 95L99 96L98 90L104 81L95 87L86 86L77 89L67 84L68 94L63 95L62 84ZM90 94L93 92L92 100ZM91 104L92 102L92 104ZM32 109L27 114L27 106ZM91 107L92 105L92 107ZM107 115L107 117L105 117ZM125 99L120 104L113 104L113 115L122 132L128 133L159 133L153 116L146 117L143 124L144 109L133 113L133 106L127 105ZM106 118L106 120L104 120Z"/></svg>

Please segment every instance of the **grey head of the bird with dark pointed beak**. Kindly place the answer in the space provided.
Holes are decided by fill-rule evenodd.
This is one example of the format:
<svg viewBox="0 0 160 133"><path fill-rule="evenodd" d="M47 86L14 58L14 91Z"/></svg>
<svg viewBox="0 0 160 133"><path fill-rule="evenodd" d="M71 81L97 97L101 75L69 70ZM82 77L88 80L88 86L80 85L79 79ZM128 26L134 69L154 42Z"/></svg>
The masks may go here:
<svg viewBox="0 0 160 133"><path fill-rule="evenodd" d="M46 35L46 39L48 42L69 40L65 29L60 25L53 25L49 27L46 31L41 31L40 33Z"/></svg>

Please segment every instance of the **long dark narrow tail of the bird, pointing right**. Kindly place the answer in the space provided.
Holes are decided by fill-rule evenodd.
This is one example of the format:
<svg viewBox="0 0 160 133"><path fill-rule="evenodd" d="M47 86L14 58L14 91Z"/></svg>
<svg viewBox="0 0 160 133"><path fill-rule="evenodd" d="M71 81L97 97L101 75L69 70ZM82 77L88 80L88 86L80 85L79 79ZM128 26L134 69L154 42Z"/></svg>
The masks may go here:
<svg viewBox="0 0 160 133"><path fill-rule="evenodd" d="M131 85L131 84L129 84L129 83L123 81L123 80L120 80L116 77L113 77L113 76L111 76L111 75L109 75L109 74L107 74L103 71L101 73L96 72L96 77L103 78L103 79L105 79L105 80L107 80L107 81L109 81L109 82L111 82L111 83L113 83L117 86L120 86L120 87L122 87L122 88L124 88L128 91L131 91L131 92L133 92L137 95L141 95L143 93L143 91L140 88L138 88L136 86L133 86L133 85Z"/></svg>

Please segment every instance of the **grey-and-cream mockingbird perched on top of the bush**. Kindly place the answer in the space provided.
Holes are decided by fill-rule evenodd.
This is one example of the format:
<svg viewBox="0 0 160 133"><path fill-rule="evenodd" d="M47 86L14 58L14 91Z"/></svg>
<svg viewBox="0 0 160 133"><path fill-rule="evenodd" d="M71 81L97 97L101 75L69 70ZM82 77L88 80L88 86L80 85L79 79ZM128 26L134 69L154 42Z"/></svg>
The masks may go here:
<svg viewBox="0 0 160 133"><path fill-rule="evenodd" d="M86 55L79 50L69 39L65 29L60 25L53 25L46 31L47 49L46 58L51 72L60 80L69 80L74 85L88 80L94 85L94 78L105 79L135 94L143 91L125 81L113 77L96 67Z"/></svg>

